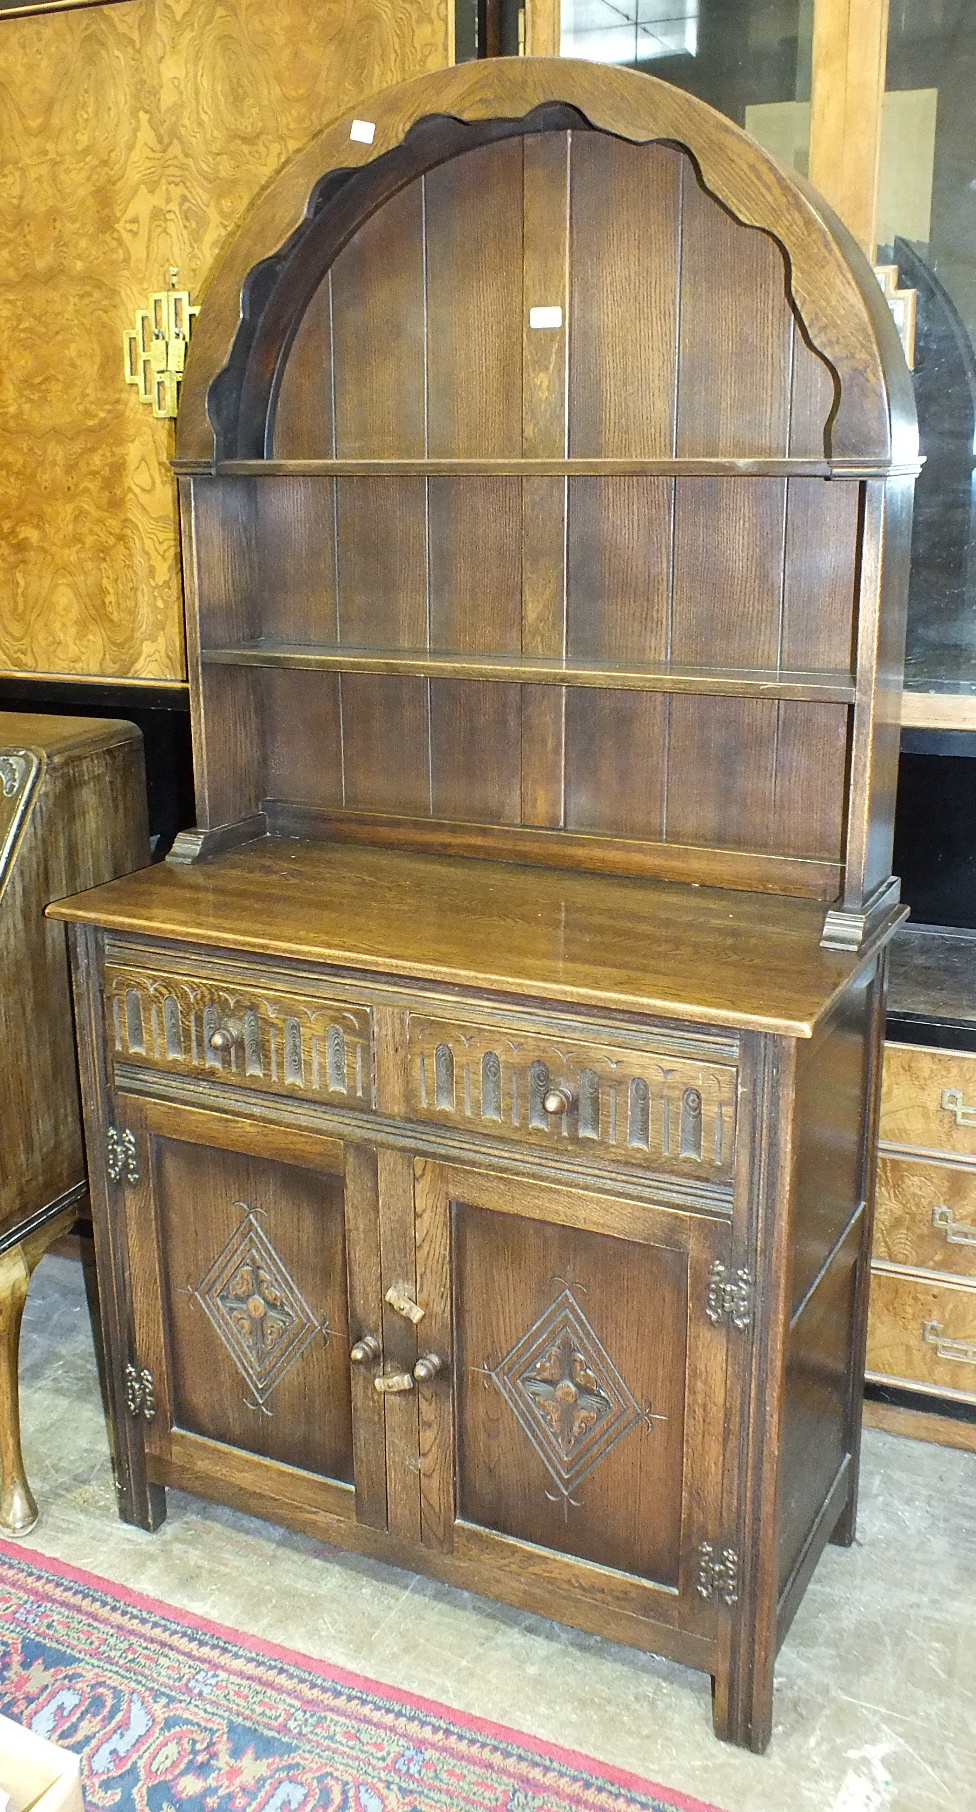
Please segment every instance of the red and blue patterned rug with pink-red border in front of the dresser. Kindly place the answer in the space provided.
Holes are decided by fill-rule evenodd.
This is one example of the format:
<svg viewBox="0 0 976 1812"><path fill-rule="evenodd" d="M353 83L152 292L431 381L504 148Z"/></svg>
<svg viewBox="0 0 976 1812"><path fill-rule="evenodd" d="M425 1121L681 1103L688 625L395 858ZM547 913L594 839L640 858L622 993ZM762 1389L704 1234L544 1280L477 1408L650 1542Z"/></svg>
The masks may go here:
<svg viewBox="0 0 976 1812"><path fill-rule="evenodd" d="M715 1812L7 1542L0 1711L89 1812Z"/></svg>

